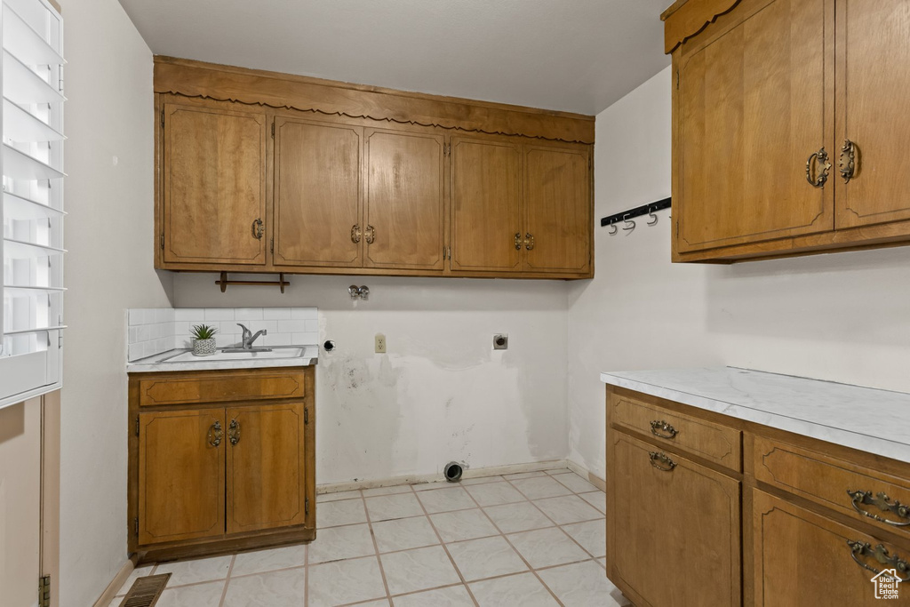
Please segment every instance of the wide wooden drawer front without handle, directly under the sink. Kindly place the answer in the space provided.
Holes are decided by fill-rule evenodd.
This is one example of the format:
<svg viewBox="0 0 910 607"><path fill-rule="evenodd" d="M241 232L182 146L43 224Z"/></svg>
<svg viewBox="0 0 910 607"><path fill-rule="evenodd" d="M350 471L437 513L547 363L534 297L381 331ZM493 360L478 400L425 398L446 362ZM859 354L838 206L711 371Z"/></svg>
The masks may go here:
<svg viewBox="0 0 910 607"><path fill-rule="evenodd" d="M235 400L300 399L303 373L252 370L199 377L163 375L139 380L139 405L174 405Z"/></svg>

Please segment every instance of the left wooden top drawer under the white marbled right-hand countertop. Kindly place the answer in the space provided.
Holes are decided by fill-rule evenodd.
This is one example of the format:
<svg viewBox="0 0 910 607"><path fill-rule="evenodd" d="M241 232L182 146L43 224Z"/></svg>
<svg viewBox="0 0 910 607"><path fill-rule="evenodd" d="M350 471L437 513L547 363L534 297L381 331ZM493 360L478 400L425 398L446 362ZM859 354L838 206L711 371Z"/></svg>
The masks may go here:
<svg viewBox="0 0 910 607"><path fill-rule="evenodd" d="M613 396L611 408L611 421L618 427L634 430L659 444L672 445L732 470L742 470L739 430L625 396Z"/></svg>

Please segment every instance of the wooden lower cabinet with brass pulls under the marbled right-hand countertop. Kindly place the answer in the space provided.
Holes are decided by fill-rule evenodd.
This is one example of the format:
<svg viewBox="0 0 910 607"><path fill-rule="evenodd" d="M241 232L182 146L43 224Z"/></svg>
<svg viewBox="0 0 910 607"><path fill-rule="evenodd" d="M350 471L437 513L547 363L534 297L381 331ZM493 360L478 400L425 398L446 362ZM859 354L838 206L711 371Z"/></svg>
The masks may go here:
<svg viewBox="0 0 910 607"><path fill-rule="evenodd" d="M636 607L910 605L910 464L612 386L606 430L607 576Z"/></svg>

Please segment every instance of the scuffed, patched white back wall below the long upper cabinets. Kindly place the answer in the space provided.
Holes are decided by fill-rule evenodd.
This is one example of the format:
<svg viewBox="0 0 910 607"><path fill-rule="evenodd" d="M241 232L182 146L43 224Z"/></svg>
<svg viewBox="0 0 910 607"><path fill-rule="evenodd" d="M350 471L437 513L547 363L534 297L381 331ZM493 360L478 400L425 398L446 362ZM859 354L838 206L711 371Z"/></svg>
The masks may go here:
<svg viewBox="0 0 910 607"><path fill-rule="evenodd" d="M317 482L442 475L561 460L566 422L566 283L292 276L278 288L176 274L180 308L319 308ZM350 285L369 286L351 300ZM387 353L374 352L374 337ZM492 349L495 333L509 349Z"/></svg>

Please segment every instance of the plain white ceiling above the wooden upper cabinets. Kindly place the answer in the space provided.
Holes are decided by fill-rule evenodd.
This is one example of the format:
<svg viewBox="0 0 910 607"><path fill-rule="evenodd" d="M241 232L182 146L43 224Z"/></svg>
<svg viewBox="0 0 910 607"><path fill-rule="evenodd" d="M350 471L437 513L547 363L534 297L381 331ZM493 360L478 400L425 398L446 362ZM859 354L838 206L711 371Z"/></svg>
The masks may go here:
<svg viewBox="0 0 910 607"><path fill-rule="evenodd" d="M670 64L671 0L120 0L156 55L597 114Z"/></svg>

